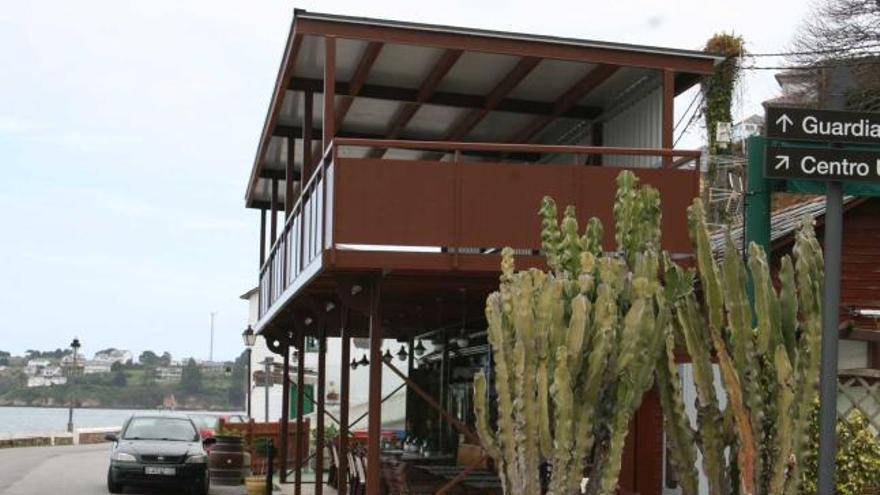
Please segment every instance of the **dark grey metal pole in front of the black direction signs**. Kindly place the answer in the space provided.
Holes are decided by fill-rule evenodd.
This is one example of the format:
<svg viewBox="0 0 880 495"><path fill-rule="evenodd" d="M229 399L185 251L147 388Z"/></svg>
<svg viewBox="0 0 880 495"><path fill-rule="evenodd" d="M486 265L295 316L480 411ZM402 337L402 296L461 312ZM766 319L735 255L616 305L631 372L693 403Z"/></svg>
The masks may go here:
<svg viewBox="0 0 880 495"><path fill-rule="evenodd" d="M842 66L831 75L830 106L846 107L849 73ZM840 337L840 258L843 239L843 184L825 183L825 288L822 294L822 367L819 375L819 495L834 495L837 459L837 343Z"/></svg>

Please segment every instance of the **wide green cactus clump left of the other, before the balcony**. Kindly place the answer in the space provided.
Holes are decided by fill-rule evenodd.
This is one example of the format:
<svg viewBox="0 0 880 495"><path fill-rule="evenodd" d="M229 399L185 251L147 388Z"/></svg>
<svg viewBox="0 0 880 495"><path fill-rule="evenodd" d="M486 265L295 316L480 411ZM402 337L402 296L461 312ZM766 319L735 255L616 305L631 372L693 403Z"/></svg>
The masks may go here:
<svg viewBox="0 0 880 495"><path fill-rule="evenodd" d="M489 420L487 381L474 382L477 430L507 494L578 493L594 451L591 491L617 491L629 423L654 381L672 318L659 275L660 198L618 177L618 253L603 254L598 219L579 231L574 208L558 220L542 203L541 239L550 271L514 271L502 253L497 292L486 301L498 420ZM542 487L542 464L550 466Z"/></svg>

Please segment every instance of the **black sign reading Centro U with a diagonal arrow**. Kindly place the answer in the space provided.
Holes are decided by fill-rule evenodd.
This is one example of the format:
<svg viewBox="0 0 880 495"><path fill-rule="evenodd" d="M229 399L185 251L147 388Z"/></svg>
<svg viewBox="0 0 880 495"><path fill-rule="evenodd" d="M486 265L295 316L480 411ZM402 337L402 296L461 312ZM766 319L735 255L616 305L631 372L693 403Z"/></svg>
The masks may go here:
<svg viewBox="0 0 880 495"><path fill-rule="evenodd" d="M772 179L880 181L880 150L768 146L764 176Z"/></svg>

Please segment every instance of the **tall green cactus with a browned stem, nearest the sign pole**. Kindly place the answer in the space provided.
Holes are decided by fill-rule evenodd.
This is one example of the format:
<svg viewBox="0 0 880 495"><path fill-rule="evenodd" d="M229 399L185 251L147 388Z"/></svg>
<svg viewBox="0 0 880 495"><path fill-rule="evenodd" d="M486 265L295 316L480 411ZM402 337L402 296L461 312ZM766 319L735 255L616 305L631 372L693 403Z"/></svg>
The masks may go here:
<svg viewBox="0 0 880 495"><path fill-rule="evenodd" d="M694 446L699 446L713 495L797 494L821 342L822 251L812 224L804 221L797 232L795 262L782 258L777 291L763 249L749 246L744 263L728 236L728 255L716 262L699 199L688 218L702 297L693 272L666 258L664 294L674 328L666 336L657 381L682 492L697 493ZM746 293L749 277L752 303ZM693 362L696 430L684 413L673 354L677 343ZM725 411L718 405L713 361ZM730 455L724 455L725 448Z"/></svg>

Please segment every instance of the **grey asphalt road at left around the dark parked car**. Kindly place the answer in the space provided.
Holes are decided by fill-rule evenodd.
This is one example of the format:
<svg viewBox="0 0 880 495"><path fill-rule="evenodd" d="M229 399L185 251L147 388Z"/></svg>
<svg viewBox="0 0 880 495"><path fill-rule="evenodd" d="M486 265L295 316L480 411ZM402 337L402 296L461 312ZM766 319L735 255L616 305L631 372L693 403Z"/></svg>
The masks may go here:
<svg viewBox="0 0 880 495"><path fill-rule="evenodd" d="M109 444L0 449L0 495L106 495L109 462ZM128 488L125 493L168 492ZM243 493L240 487L211 488L212 495Z"/></svg>

